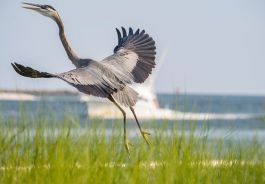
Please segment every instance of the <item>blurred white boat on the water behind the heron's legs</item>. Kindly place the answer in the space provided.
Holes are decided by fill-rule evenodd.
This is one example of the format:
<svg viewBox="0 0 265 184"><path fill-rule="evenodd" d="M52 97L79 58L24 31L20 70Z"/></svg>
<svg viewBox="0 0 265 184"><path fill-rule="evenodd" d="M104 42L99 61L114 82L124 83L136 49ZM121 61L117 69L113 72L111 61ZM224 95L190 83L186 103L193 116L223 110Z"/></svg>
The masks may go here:
<svg viewBox="0 0 265 184"><path fill-rule="evenodd" d="M157 96L147 84L132 86L139 93L139 100L134 106L138 118L141 119L165 119L170 118L174 111L159 108ZM81 95L81 101L86 101L89 117L103 117L105 119L122 118L119 109L106 99ZM127 118L133 118L129 108L124 107Z"/></svg>

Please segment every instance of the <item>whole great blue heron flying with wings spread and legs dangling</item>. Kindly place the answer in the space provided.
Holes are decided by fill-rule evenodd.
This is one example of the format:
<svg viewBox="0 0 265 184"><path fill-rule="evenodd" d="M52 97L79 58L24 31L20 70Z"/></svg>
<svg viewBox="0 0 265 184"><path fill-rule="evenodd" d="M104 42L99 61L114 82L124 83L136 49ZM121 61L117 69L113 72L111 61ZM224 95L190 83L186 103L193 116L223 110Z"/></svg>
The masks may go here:
<svg viewBox="0 0 265 184"><path fill-rule="evenodd" d="M52 6L32 3L23 4L23 8L34 10L57 23L64 49L76 69L64 73L51 74L40 72L18 63L11 63L15 71L22 76L31 78L59 78L74 86L80 92L108 98L123 114L124 146L128 152L130 143L126 136L126 113L120 104L129 107L141 135L149 145L148 135L150 133L141 128L133 108L137 102L138 93L128 85L132 82L143 83L151 74L152 69L155 67L155 41L144 30L140 31L137 29L134 32L132 28L129 28L127 33L125 28L122 27L121 34L119 29L116 28L118 44L114 48L113 55L108 56L101 62L93 59L82 59L70 47L64 33L62 20Z"/></svg>

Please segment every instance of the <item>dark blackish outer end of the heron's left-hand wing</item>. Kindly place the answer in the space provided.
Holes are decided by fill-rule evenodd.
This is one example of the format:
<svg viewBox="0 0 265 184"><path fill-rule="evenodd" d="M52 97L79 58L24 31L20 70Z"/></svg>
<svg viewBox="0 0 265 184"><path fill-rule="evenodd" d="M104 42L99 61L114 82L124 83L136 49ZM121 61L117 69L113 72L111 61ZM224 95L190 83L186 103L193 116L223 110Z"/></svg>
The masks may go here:
<svg viewBox="0 0 265 184"><path fill-rule="evenodd" d="M47 73L47 72L40 72L38 70L35 70L33 68L30 67L25 67L21 64L18 63L11 63L11 65L13 66L14 70L24 76L24 77L30 77L30 78L52 78L52 77L56 77L53 74Z"/></svg>

